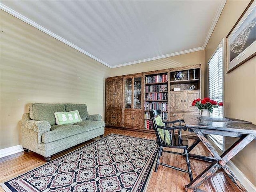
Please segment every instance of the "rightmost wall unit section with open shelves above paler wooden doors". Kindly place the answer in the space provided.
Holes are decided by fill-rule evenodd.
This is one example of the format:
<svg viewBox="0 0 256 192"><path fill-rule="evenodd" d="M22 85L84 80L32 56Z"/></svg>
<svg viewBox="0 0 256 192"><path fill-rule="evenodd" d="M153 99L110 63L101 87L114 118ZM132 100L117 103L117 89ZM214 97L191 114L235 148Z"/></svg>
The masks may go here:
<svg viewBox="0 0 256 192"><path fill-rule="evenodd" d="M192 106L196 98L201 98L201 65L170 69L170 120L183 119L184 114L199 115L198 108ZM182 134L196 136L188 131Z"/></svg>

